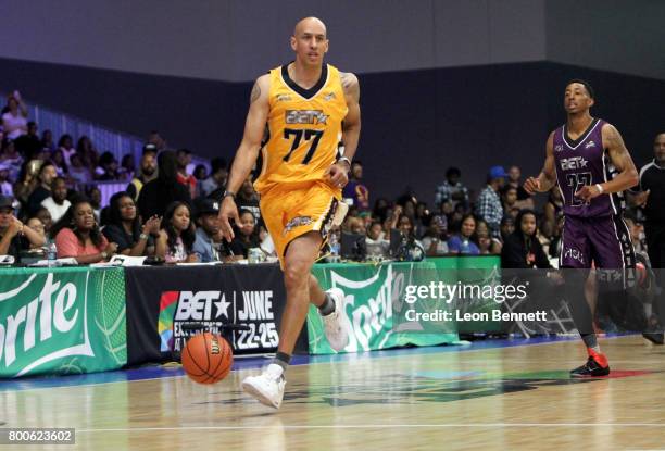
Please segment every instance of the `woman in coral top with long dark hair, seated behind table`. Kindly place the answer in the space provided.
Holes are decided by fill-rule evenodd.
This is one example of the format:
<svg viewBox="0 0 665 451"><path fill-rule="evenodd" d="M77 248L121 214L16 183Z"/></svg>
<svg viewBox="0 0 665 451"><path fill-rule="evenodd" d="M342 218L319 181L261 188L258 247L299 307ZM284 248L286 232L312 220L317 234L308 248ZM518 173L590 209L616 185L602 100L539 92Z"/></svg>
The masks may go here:
<svg viewBox="0 0 665 451"><path fill-rule="evenodd" d="M72 202L70 210L51 227L55 239L58 258L74 258L79 264L106 261L117 250L115 242L109 242L95 220L92 205L87 199Z"/></svg>

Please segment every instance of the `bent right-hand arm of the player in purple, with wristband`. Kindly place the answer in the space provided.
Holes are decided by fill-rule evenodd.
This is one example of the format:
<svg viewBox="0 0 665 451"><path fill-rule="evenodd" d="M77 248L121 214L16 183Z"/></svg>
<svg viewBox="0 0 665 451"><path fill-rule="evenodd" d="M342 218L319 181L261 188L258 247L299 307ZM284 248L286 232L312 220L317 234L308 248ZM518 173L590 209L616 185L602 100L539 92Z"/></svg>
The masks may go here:
<svg viewBox="0 0 665 451"><path fill-rule="evenodd" d="M610 161L619 173L610 181L584 186L575 193L576 197L582 200L588 201L602 193L610 195L612 192L625 191L639 183L635 163L616 127L611 124L604 124L602 136L605 149L607 149L607 153L610 154Z"/></svg>

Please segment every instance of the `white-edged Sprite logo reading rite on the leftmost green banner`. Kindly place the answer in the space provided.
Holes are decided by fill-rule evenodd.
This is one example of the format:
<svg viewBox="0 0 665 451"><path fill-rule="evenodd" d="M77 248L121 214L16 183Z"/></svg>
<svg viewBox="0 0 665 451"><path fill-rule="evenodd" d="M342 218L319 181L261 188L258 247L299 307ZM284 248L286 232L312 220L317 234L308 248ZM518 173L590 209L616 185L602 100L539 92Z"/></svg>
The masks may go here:
<svg viewBox="0 0 665 451"><path fill-rule="evenodd" d="M89 273L78 287L54 276L32 274L17 287L2 286L0 374L18 377L59 359L95 356L87 321Z"/></svg>

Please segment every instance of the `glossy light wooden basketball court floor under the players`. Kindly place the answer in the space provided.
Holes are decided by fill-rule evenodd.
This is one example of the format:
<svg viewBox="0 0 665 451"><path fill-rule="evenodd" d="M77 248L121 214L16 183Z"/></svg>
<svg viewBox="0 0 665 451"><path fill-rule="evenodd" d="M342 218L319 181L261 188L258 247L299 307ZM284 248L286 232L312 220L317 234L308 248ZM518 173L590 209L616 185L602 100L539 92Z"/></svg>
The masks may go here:
<svg viewBox="0 0 665 451"><path fill-rule="evenodd" d="M2 381L1 427L74 427L86 450L665 448L665 348L601 340L613 375L572 380L579 340L534 341L303 358L279 411L239 390L258 359L212 386L163 367Z"/></svg>

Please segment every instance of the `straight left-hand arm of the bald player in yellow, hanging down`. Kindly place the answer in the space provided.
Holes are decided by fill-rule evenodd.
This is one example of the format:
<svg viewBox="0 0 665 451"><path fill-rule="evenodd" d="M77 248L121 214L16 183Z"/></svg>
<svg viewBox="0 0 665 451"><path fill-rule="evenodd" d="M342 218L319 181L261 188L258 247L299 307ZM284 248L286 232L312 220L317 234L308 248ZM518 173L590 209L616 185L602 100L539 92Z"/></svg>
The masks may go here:
<svg viewBox="0 0 665 451"><path fill-rule="evenodd" d="M227 241L234 239L234 230L229 220L234 220L236 223L240 222L234 196L247 179L250 171L252 171L261 150L261 139L263 138L269 110L268 88L269 75L262 75L254 83L252 93L250 95L250 107L244 123L244 134L242 135L240 147L236 151L234 165L226 184L227 193L233 196L225 196L219 208L219 226Z"/></svg>

